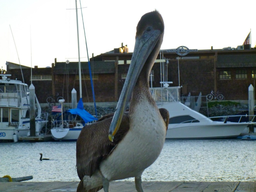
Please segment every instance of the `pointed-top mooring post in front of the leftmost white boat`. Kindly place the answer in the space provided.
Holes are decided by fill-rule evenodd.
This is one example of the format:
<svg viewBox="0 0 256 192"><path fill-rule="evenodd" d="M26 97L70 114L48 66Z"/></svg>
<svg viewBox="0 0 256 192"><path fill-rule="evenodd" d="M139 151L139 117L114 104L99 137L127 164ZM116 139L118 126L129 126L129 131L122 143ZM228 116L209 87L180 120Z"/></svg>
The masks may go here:
<svg viewBox="0 0 256 192"><path fill-rule="evenodd" d="M35 112L35 87L31 83L29 86L29 119L30 119L30 136L36 136L36 112Z"/></svg>

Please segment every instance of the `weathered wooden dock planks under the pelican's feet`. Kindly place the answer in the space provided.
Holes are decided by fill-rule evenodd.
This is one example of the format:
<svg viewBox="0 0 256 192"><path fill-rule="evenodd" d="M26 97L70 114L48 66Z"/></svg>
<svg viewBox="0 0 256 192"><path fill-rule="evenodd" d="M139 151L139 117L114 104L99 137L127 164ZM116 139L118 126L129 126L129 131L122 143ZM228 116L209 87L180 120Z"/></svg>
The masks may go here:
<svg viewBox="0 0 256 192"><path fill-rule="evenodd" d="M1 192L76 191L77 182L0 182ZM246 192L256 191L256 182L142 182L145 192ZM110 192L136 192L134 182L114 181ZM103 189L100 192L104 192Z"/></svg>

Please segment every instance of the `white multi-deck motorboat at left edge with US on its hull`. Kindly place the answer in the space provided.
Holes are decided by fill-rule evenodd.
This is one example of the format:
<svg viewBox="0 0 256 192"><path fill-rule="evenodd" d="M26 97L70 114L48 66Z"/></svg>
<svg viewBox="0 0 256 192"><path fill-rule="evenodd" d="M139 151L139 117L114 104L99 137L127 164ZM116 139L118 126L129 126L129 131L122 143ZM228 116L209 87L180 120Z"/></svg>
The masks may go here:
<svg viewBox="0 0 256 192"><path fill-rule="evenodd" d="M17 141L19 136L29 136L29 89L18 80L9 79L10 74L0 74L0 141ZM36 97L36 96L35 96ZM47 114L41 113L36 98L36 136L47 122Z"/></svg>

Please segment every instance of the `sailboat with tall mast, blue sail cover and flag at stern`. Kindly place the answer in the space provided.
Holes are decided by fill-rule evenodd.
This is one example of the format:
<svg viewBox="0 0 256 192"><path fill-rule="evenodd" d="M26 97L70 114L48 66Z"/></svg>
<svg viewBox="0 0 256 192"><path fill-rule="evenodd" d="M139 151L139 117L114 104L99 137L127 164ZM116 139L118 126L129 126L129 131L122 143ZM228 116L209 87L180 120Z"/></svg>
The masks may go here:
<svg viewBox="0 0 256 192"><path fill-rule="evenodd" d="M62 103L61 101L61 115L59 115L56 120L52 121L54 127L51 129L52 138L59 141L76 141L82 128L86 124L93 123L97 118L93 117L90 113L83 109L82 101L82 83L81 83L81 62L80 62L80 48L79 48L79 32L78 32L78 14L77 14L77 1L76 1L76 16L77 16L77 41L78 41L78 67L79 67L79 91L80 100L78 102L76 109L70 109L62 113ZM87 52L88 54L88 52ZM88 57L88 65L90 70L90 61ZM92 82L92 78L91 78ZM93 84L92 91L93 91ZM93 91L93 100L95 106L95 115L97 116L95 97Z"/></svg>

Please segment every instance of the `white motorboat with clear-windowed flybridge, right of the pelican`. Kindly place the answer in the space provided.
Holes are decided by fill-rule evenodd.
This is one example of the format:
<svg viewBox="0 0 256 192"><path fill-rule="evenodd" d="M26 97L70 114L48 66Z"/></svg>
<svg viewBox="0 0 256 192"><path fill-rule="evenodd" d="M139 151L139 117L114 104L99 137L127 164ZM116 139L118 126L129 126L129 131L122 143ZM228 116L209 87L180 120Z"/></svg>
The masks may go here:
<svg viewBox="0 0 256 192"><path fill-rule="evenodd" d="M169 111L170 119L166 139L215 139L236 138L248 130L254 122L230 122L230 116L214 117L222 121L213 121L180 102L180 87L151 88L158 108ZM247 115L248 116L248 115ZM235 117L235 115L232 115Z"/></svg>

